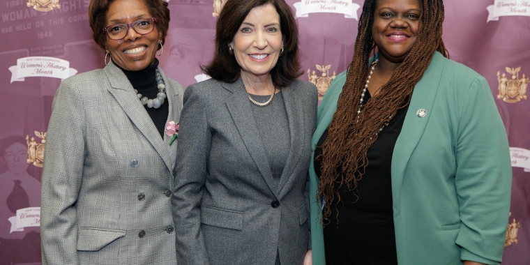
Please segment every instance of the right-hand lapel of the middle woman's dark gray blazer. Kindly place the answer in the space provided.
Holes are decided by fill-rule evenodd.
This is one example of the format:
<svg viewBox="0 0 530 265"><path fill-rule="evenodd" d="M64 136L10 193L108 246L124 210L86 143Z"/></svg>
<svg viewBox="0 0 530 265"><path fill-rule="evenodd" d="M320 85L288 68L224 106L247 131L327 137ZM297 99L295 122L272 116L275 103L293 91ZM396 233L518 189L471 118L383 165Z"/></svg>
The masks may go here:
<svg viewBox="0 0 530 265"><path fill-rule="evenodd" d="M298 100L296 96L296 87L287 86L282 89L283 101L285 104L285 110L287 111L287 120L289 121L289 135L291 136L291 149L289 150L289 156L285 167L283 168L280 183L278 184L278 194L282 191L282 188L288 183L292 172L296 168L300 155L295 150L300 150L304 141L303 135L305 135L304 126L304 107L302 102Z"/></svg>

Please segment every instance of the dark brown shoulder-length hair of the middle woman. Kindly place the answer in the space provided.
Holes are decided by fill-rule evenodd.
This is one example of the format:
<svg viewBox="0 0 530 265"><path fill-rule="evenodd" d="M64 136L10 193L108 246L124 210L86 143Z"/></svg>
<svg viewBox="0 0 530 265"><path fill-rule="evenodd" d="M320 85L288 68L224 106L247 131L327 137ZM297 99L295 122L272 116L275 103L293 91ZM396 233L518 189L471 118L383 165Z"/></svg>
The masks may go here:
<svg viewBox="0 0 530 265"><path fill-rule="evenodd" d="M236 82L241 75L241 66L235 56L229 54L228 43L234 40L250 10L268 3L272 4L280 15L284 49L271 70L273 84L277 87L287 86L302 75L298 58L298 27L291 8L284 0L228 0L215 27L215 54L209 65L202 66L204 73L223 82Z"/></svg>

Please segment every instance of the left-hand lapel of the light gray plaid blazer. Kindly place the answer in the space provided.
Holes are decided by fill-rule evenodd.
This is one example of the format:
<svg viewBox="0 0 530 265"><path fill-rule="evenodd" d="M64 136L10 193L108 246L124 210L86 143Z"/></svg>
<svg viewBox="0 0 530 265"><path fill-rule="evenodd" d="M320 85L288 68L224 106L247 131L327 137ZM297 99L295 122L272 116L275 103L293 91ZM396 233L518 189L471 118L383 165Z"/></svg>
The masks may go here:
<svg viewBox="0 0 530 265"><path fill-rule="evenodd" d="M164 160L169 172L173 174L173 163L170 156L169 150L165 142L160 138L160 133L155 127L155 124L151 120L149 114L147 114L144 105L140 103L137 96L134 93L132 85L128 81L126 75L119 68L114 66L114 63L109 63L104 68L105 73L109 79L111 87L108 89L109 92L116 98L116 101L123 112L127 114L130 121L135 124L136 128L146 137L151 143L153 148L158 152L162 160ZM165 78L165 81L167 78Z"/></svg>

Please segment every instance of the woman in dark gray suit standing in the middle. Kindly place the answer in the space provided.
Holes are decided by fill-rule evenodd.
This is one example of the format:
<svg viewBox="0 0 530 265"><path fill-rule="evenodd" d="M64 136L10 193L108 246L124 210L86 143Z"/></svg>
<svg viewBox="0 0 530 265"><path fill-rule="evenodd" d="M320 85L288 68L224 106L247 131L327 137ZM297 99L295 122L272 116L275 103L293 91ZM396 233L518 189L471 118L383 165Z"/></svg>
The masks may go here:
<svg viewBox="0 0 530 265"><path fill-rule="evenodd" d="M296 79L298 31L287 3L227 1L203 70L212 79L184 93L172 199L177 260L303 264L318 99L315 85Z"/></svg>

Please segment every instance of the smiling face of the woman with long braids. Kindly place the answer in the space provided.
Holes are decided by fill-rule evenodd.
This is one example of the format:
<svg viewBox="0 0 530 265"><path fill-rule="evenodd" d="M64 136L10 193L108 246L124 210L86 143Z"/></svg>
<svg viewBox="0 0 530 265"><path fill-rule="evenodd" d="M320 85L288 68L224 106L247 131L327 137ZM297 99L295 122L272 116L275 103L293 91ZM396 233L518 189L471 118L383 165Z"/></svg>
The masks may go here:
<svg viewBox="0 0 530 265"><path fill-rule="evenodd" d="M377 1L372 38L379 60L402 63L418 38L420 15L418 0Z"/></svg>

